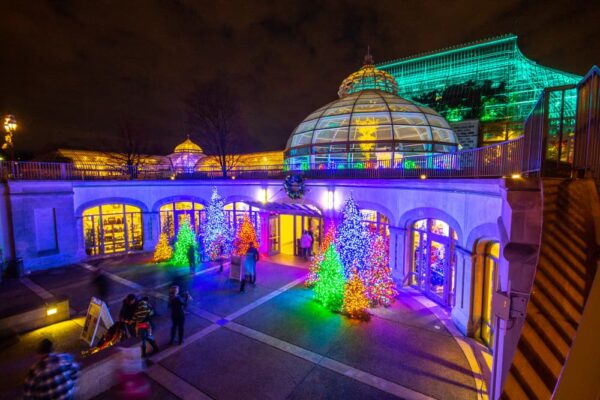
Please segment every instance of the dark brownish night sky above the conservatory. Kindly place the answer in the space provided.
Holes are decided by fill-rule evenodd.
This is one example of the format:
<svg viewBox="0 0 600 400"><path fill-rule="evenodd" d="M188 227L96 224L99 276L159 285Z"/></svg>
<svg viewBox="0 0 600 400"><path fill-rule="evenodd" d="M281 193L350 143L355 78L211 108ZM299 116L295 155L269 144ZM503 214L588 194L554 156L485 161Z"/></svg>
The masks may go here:
<svg viewBox="0 0 600 400"><path fill-rule="evenodd" d="M247 149L278 150L336 99L367 45L381 62L512 32L529 58L582 75L600 64L595 3L3 1L0 112L19 122L22 157L118 150L123 121L167 154L188 133L195 82L220 76L240 100Z"/></svg>

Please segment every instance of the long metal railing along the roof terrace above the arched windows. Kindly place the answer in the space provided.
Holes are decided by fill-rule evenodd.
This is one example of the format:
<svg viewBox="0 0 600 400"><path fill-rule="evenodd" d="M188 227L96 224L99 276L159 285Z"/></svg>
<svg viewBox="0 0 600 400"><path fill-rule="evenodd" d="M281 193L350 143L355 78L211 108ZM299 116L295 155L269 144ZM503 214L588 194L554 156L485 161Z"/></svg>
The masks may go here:
<svg viewBox="0 0 600 400"><path fill-rule="evenodd" d="M535 173L539 165L523 168L524 138L455 153L405 156L400 160L316 163L301 166L239 166L227 179L282 179L298 174L318 179L493 178ZM193 171L168 165L115 166L82 163L0 162L5 180L180 180L223 179L219 167Z"/></svg>

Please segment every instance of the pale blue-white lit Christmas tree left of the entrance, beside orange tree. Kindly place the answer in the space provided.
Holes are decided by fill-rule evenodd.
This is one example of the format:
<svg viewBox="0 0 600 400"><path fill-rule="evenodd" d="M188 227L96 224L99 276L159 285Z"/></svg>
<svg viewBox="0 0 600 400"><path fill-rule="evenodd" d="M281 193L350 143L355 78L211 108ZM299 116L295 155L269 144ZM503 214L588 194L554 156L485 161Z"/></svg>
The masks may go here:
<svg viewBox="0 0 600 400"><path fill-rule="evenodd" d="M219 258L221 248L224 254L231 252L232 234L225 220L223 207L225 202L213 188L210 204L206 208L206 228L204 233L204 251L210 260Z"/></svg>

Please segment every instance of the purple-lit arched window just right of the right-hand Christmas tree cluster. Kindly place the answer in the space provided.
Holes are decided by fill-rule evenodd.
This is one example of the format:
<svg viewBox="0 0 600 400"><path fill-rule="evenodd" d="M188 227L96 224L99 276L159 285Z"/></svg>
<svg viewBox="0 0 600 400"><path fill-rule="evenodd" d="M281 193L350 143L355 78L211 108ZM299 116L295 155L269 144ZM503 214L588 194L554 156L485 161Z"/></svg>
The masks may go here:
<svg viewBox="0 0 600 400"><path fill-rule="evenodd" d="M411 285L438 303L452 306L456 232L439 219L422 219L411 225L411 238Z"/></svg>

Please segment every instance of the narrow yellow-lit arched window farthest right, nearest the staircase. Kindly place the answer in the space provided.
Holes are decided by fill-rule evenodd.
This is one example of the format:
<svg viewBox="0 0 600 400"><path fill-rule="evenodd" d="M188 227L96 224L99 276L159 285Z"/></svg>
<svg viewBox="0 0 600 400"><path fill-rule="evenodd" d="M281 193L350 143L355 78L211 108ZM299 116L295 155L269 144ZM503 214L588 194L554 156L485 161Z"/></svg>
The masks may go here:
<svg viewBox="0 0 600 400"><path fill-rule="evenodd" d="M487 242L483 256L483 295L481 297L481 340L491 348L494 345L494 316L492 296L496 291L500 243Z"/></svg>

